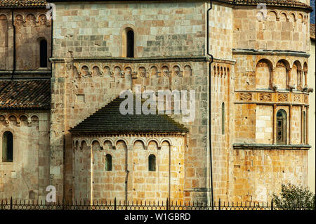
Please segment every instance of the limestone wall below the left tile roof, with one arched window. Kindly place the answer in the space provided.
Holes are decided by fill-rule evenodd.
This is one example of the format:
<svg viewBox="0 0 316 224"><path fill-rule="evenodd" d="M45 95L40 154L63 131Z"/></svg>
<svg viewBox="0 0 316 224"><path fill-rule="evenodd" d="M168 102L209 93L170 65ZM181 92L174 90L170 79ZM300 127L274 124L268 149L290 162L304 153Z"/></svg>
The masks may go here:
<svg viewBox="0 0 316 224"><path fill-rule="evenodd" d="M0 114L0 199L45 200L49 185L49 112ZM4 132L13 134L13 162L2 161Z"/></svg>

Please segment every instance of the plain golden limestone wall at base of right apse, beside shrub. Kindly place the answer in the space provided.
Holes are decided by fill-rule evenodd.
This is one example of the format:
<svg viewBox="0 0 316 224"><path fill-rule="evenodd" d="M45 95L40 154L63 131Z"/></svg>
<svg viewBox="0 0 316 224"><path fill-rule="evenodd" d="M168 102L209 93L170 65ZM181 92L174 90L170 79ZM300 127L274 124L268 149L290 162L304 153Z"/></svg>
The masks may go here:
<svg viewBox="0 0 316 224"><path fill-rule="evenodd" d="M234 150L232 199L270 202L282 184L307 184L307 154L306 150Z"/></svg>

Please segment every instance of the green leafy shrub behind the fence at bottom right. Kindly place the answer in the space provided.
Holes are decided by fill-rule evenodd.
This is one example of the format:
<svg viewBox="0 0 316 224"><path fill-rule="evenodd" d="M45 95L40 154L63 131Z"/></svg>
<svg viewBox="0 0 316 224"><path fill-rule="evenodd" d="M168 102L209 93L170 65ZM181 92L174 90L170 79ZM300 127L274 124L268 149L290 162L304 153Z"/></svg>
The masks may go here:
<svg viewBox="0 0 316 224"><path fill-rule="evenodd" d="M315 194L302 185L282 185L281 195L273 194L273 204L284 210L315 210Z"/></svg>

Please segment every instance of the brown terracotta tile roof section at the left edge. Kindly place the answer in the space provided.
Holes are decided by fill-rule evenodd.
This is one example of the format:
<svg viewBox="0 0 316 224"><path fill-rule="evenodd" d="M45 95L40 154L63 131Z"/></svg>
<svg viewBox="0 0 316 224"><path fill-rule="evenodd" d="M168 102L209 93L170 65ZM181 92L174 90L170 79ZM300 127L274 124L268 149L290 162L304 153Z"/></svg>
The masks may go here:
<svg viewBox="0 0 316 224"><path fill-rule="evenodd" d="M50 80L1 80L0 110L49 109Z"/></svg>

